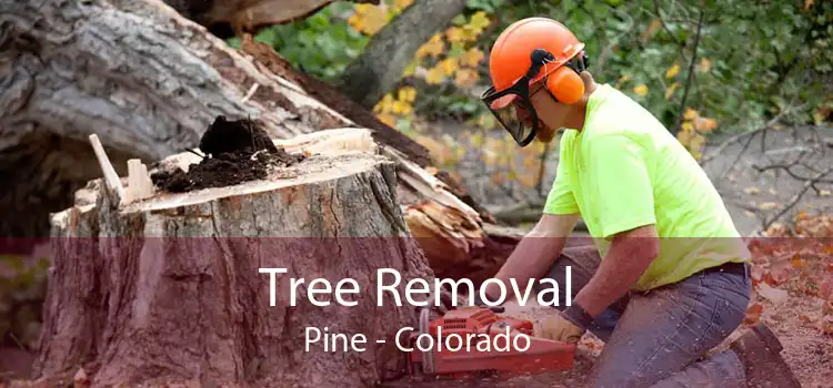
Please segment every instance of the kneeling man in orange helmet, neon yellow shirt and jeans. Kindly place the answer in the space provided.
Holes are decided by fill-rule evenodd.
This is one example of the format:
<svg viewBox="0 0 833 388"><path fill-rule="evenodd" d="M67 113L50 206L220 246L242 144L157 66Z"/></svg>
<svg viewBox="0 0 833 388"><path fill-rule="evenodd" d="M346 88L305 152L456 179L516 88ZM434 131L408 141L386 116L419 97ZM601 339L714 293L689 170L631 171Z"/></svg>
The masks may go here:
<svg viewBox="0 0 833 388"><path fill-rule="evenodd" d="M544 18L513 23L492 48L482 100L513 139L565 130L544 214L495 278L558 282L561 303L539 335L602 339L593 386L800 387L763 325L705 357L745 316L749 251L696 161L641 105L595 83L583 48ZM564 249L580 216L591 254ZM483 292L500 296L494 283Z"/></svg>

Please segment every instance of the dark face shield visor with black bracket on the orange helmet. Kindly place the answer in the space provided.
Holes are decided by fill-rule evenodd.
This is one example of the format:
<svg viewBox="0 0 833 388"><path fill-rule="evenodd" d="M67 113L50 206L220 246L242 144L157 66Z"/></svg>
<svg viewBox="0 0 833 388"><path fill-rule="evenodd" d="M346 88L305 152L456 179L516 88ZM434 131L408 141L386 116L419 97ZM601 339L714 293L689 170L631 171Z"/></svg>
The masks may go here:
<svg viewBox="0 0 833 388"><path fill-rule="evenodd" d="M490 86L480 96L481 101L498 119L498 122L512 135L512 139L520 146L526 146L531 143L535 139L539 125L541 125L535 108L532 105L530 83L535 80L535 75L538 75L542 67L554 60L552 54L544 50L535 50L531 57L532 65L526 71L526 74L518 79L511 86L500 92L495 91L494 86ZM571 63L565 63L565 65L573 68ZM553 65L551 71L556 68ZM544 73L548 73L548 71ZM541 89L536 90L535 93L540 92Z"/></svg>

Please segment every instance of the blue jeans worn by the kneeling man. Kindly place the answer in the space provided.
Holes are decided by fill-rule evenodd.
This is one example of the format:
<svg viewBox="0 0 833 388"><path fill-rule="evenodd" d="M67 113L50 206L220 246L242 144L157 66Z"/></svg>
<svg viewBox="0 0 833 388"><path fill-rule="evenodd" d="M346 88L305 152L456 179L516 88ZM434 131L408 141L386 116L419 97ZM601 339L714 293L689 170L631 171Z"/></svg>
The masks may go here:
<svg viewBox="0 0 833 388"><path fill-rule="evenodd" d="M570 266L574 297L599 263L595 247L566 248L546 277L564 287ZM731 350L705 354L741 325L751 287L749 274L713 272L626 295L590 328L605 344L589 386L745 387L737 355ZM564 292L560 289L559 296ZM559 303L556 308L565 307Z"/></svg>

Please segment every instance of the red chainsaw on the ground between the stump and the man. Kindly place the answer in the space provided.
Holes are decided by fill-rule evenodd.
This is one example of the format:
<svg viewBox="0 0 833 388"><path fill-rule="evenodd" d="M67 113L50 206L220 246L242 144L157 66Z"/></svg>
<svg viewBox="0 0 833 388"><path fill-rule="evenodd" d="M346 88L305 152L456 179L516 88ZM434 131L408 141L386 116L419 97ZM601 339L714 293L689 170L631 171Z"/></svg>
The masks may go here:
<svg viewBox="0 0 833 388"><path fill-rule="evenodd" d="M498 315L502 307L463 307L429 320L420 312L408 357L411 376L466 378L566 370L573 367L575 345L533 336L532 321Z"/></svg>

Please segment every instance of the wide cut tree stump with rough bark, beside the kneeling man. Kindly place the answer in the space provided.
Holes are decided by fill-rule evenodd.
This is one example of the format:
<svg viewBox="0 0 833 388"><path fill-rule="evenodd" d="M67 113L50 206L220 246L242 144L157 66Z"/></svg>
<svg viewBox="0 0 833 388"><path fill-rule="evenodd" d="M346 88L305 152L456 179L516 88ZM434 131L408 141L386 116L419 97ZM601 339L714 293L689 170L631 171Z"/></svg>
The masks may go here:
<svg viewBox="0 0 833 388"><path fill-rule="evenodd" d="M328 131L318 135L332 141ZM52 217L36 376L71 376L83 367L93 387L358 387L395 374L393 337L418 320L404 285L433 282L433 273L398 205L394 164L338 142L304 141L305 150L335 151L262 180L157 192L128 204L117 204L101 180L80 191L73 207ZM178 154L160 169L197 160ZM270 275L260 268L287 269L275 275L273 306ZM390 293L378 306L380 268L401 275L401 306ZM304 279L294 306L291 278ZM324 288L314 279L328 280L333 292L354 279L358 292L341 302L319 293L313 297L329 305L314 305L308 290ZM394 283L393 275L381 282ZM325 328L364 335L364 351L343 351L341 340L334 351L324 351L322 341L308 350L309 327L322 337Z"/></svg>

